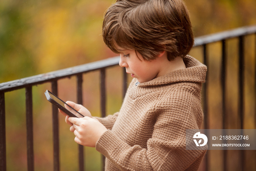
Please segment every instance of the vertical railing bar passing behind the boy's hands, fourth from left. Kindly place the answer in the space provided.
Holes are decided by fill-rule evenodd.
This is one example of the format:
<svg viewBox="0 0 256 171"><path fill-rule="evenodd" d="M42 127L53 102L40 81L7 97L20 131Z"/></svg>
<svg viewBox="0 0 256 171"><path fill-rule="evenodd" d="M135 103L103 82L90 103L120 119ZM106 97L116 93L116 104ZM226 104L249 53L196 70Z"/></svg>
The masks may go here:
<svg viewBox="0 0 256 171"><path fill-rule="evenodd" d="M77 77L77 102L83 105L83 74L78 74ZM83 145L78 144L78 159L79 159L79 171L84 171L84 155Z"/></svg>

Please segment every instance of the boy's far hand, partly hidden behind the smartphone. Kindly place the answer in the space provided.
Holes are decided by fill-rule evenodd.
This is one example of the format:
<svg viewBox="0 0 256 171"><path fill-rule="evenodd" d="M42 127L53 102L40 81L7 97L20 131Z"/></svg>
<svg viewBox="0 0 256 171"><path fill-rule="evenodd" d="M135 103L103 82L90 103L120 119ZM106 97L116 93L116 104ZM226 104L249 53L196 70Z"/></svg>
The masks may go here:
<svg viewBox="0 0 256 171"><path fill-rule="evenodd" d="M74 102L72 102L72 101L67 101L66 103L67 103L69 106L71 106L72 108L74 108L76 111L78 111L79 113L81 113L83 116L89 116L89 117L92 118L90 111L89 111L88 109L86 109L84 106L79 105L79 104L76 104L76 103L74 103ZM66 123L69 124L70 126L72 126L73 124L68 121L69 116L68 116L65 112L63 112L62 110L60 110L60 109L59 109L59 112L60 112L61 114L63 114L64 116L66 116L66 118L65 118Z"/></svg>

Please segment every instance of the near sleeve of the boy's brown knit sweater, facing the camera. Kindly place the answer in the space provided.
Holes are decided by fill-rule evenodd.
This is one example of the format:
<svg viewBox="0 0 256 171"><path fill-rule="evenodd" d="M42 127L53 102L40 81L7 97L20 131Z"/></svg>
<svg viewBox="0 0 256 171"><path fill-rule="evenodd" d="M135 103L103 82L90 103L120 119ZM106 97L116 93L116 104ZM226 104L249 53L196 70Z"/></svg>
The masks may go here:
<svg viewBox="0 0 256 171"><path fill-rule="evenodd" d="M197 170L200 162L196 161L202 160L206 151L186 150L185 132L200 128L200 98L191 90L177 93L179 96L165 99L149 111L155 114L155 124L146 148L130 146L108 130L97 141L96 150L120 170Z"/></svg>

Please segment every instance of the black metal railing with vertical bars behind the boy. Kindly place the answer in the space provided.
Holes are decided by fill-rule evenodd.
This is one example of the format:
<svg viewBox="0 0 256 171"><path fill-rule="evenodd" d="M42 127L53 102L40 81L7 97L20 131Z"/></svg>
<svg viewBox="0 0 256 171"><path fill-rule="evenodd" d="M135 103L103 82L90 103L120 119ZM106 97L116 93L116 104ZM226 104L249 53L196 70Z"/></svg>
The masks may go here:
<svg viewBox="0 0 256 171"><path fill-rule="evenodd" d="M209 67L209 54L208 51L210 48L208 47L211 43L221 42L221 92L219 96L222 98L222 128L229 129L228 124L228 114L227 113L227 104L226 104L226 89L227 89L227 41L229 39L238 39L238 58L239 58L239 68L238 68L238 120L240 121L240 128L235 129L243 129L244 128L244 75L245 75L245 36L256 34L256 26L250 27L242 27L235 30L225 31L217 34L211 34L207 36L198 37L195 39L194 47L202 47L202 62L208 66L208 73L209 71L213 70ZM254 47L256 51L256 42ZM256 54L256 52L255 52ZM256 59L256 55L255 55ZM101 116L106 116L106 69L112 66L118 65L119 57L109 58L98 62L88 63L80 66L71 67L68 69L58 70L46 74L35 75L32 77L22 78L15 81L4 82L0 84L0 171L6 171L6 130L5 130L5 93L23 89L26 90L26 130L27 130L27 170L33 171L34 170L34 144L33 144L33 100L32 100L32 88L36 85L41 85L46 82L50 82L52 85L52 92L54 94L58 94L58 80L68 77L76 77L76 85L77 85L77 102L79 104L83 104L83 97L82 97L82 85L83 85L83 74L89 73L91 71L99 70L100 71L100 94L101 94ZM256 68L256 62L255 62ZM206 83L203 86L203 109L204 109L204 129L210 129L210 118L209 118L209 99L211 98L209 94L209 75L207 74ZM123 69L123 97L125 95L127 89L127 74L125 68ZM256 71L254 82L256 80ZM256 83L255 83L256 85ZM253 88L252 92L255 93L256 87ZM254 113L254 128L256 128L256 114ZM53 122L53 166L54 171L60 170L60 156L59 156L59 118L58 118L58 110L54 106L52 107L52 122ZM219 128L218 128L219 129ZM210 170L211 162L210 156L207 152L207 155L202 163L202 170ZM241 161L241 169L245 170L246 163L244 160L245 152L240 152L240 161ZM103 158L104 160L104 158ZM227 151L223 151L223 162L222 168L223 170L228 170L227 165ZM255 167L255 166L254 166ZM84 152L83 146L79 145L79 170L84 170Z"/></svg>

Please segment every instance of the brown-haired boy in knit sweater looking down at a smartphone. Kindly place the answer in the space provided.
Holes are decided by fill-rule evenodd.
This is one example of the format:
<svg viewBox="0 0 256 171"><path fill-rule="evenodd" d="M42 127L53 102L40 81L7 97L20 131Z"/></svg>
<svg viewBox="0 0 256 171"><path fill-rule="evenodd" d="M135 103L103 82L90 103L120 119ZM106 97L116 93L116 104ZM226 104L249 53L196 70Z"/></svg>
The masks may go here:
<svg viewBox="0 0 256 171"><path fill-rule="evenodd" d="M117 0L103 21L104 42L134 77L119 112L66 116L79 144L106 156L105 170L198 170L206 151L186 150L186 129L203 121L206 66L188 56L192 26L182 0ZM61 112L66 115L65 113Z"/></svg>

